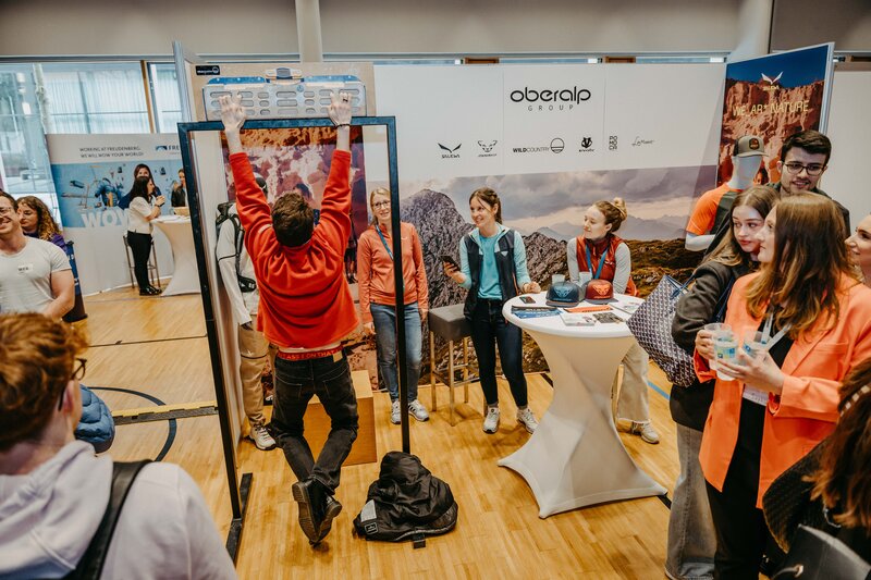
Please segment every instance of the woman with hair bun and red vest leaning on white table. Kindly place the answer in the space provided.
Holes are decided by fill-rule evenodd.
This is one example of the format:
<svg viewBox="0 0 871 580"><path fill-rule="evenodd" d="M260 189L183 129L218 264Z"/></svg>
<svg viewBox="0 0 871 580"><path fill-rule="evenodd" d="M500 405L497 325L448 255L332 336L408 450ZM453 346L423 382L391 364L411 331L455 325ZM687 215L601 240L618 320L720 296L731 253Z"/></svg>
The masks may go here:
<svg viewBox="0 0 871 580"><path fill-rule="evenodd" d="M615 197L614 201L597 201L584 214L584 235L568 242L566 255L568 275L573 282L579 279L606 280L614 292L637 296L631 279L629 247L614 235L626 219L626 203ZM581 275L581 272L585 272ZM650 422L647 387L647 353L633 340L633 346L623 358L623 387L617 403L617 419L630 421L629 432L647 443L659 443L660 435Z"/></svg>

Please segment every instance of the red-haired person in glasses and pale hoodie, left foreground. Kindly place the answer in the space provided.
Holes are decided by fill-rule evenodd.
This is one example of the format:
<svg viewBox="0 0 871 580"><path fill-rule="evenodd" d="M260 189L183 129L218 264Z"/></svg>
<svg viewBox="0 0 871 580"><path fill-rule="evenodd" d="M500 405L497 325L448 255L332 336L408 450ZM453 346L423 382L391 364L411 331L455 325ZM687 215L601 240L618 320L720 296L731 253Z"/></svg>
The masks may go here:
<svg viewBox="0 0 871 580"><path fill-rule="evenodd" d="M86 348L73 326L0 316L0 578L61 578L90 564L85 552L110 498L112 459L73 437ZM236 578L199 489L179 466L138 472L95 577L131 570Z"/></svg>

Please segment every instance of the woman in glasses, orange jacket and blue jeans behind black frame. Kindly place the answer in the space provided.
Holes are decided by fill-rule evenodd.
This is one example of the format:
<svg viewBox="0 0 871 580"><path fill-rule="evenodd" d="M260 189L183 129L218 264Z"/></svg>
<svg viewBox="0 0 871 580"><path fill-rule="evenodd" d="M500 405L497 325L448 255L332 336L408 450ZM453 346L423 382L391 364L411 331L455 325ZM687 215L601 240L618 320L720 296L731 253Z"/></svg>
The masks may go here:
<svg viewBox="0 0 871 580"><path fill-rule="evenodd" d="M393 227L390 192L379 187L369 194L372 224L360 235L357 247L357 284L364 330L375 333L378 346L378 371L390 394L390 421L400 423L400 385L396 372L396 287L393 274ZM421 320L429 310L427 272L417 230L400 223L402 238L403 304L405 305L406 377L408 412L418 421L429 419L417 400L420 379Z"/></svg>

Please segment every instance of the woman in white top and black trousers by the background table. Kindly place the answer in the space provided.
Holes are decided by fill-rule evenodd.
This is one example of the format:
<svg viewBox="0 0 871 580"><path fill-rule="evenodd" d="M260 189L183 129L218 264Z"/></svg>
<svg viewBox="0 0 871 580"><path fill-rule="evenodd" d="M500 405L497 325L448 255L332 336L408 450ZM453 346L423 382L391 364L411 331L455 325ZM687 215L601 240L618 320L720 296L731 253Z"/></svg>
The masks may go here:
<svg viewBox="0 0 871 580"><path fill-rule="evenodd" d="M151 222L160 217L165 200L156 195L155 181L146 175L136 177L130 190L127 208L127 244L133 252L133 273L139 285L139 296L157 296L160 289L148 281L148 255L151 252ZM154 201L154 206L151 202Z"/></svg>

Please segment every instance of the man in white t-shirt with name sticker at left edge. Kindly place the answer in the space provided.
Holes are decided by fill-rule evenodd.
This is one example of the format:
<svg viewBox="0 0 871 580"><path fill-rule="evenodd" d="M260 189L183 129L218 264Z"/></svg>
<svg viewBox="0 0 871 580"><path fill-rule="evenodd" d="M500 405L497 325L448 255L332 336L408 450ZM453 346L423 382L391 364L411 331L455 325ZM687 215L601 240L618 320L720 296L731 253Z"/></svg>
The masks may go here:
<svg viewBox="0 0 871 580"><path fill-rule="evenodd" d="M15 199L0 190L0 311L60 319L75 304L75 281L63 251L24 235Z"/></svg>

